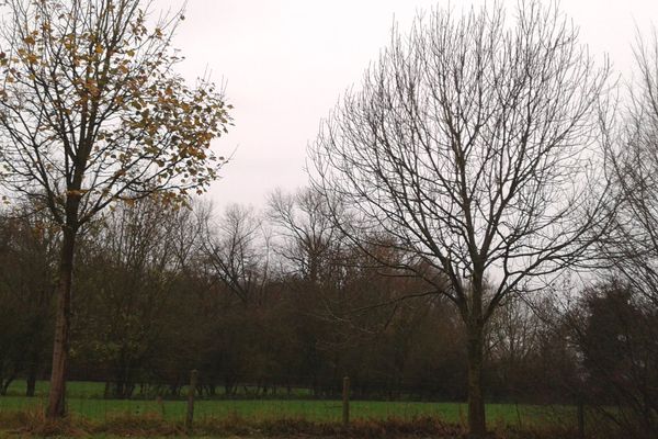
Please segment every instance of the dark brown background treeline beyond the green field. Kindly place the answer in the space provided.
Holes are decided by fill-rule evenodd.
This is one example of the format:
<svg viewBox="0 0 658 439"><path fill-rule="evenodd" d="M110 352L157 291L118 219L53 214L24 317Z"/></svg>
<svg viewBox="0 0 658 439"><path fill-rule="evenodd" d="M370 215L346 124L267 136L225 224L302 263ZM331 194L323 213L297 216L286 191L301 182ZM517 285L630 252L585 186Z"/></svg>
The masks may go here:
<svg viewBox="0 0 658 439"><path fill-rule="evenodd" d="M262 213L118 204L76 256L70 378L105 382L107 397L175 396L197 369L208 396L336 397L349 375L355 397L463 401L453 305L374 263L326 209L308 190ZM2 393L26 379L33 395L49 368L59 232L32 211L0 227ZM487 328L489 401L656 401L656 304L613 278L577 284L504 303Z"/></svg>

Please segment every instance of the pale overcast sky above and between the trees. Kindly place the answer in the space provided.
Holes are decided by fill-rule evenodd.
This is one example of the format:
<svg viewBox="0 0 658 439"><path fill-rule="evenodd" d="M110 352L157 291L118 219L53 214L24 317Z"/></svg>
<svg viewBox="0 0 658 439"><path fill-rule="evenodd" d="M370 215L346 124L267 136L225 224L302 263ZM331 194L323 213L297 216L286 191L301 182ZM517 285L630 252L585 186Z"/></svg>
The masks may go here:
<svg viewBox="0 0 658 439"><path fill-rule="evenodd" d="M182 0L156 0L155 9ZM450 2L460 11L483 1ZM489 3L491 3L489 1ZM510 7L517 0L509 0ZM446 7L438 0L188 0L175 46L190 80L207 69L226 82L235 126L215 148L234 159L211 190L216 207L263 205L274 188L306 183L306 147L319 122L388 41L394 18L407 29L417 11ZM581 42L608 53L628 74L635 29L658 22L656 0L564 0Z"/></svg>

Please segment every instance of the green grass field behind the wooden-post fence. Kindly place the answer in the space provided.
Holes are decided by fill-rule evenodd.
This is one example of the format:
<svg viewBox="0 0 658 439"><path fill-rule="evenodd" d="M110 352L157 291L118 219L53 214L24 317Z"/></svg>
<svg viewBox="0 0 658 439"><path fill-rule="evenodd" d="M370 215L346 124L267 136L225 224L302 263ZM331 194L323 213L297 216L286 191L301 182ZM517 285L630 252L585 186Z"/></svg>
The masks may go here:
<svg viewBox="0 0 658 439"><path fill-rule="evenodd" d="M10 396L0 397L0 412L39 409L46 404L47 383L38 383L37 396L19 396L24 383L15 383ZM158 414L168 420L183 419L184 401L120 401L103 399L102 384L71 382L68 385L68 408L73 416L90 420L102 420L115 415ZM353 419L386 419L390 417L411 419L432 416L449 423L463 423L466 405L457 403L415 403L415 402L367 402L353 401L350 404ZM223 418L239 416L245 419L303 418L313 421L339 421L342 414L340 401L313 399L213 399L197 401L195 418ZM543 425L554 419L575 419L568 407L540 407L513 404L487 405L488 421L491 425Z"/></svg>

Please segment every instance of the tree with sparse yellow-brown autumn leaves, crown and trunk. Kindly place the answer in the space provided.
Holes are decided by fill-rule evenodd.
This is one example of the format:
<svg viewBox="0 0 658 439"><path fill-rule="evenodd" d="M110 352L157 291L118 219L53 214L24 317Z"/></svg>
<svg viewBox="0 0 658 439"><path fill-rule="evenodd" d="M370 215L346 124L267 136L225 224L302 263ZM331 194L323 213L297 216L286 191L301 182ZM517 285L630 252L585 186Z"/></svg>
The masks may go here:
<svg viewBox="0 0 658 439"><path fill-rule="evenodd" d="M9 0L0 31L0 182L61 227L48 416L65 413L76 238L116 201L203 192L223 161L222 92L173 71L182 15L141 0Z"/></svg>

